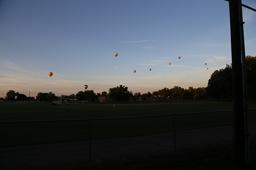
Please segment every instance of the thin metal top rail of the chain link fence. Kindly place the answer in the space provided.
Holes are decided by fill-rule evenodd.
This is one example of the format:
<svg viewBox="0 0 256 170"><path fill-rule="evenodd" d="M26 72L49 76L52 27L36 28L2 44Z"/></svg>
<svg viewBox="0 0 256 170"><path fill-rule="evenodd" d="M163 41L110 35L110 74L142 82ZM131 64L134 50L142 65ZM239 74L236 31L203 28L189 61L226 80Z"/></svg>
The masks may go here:
<svg viewBox="0 0 256 170"><path fill-rule="evenodd" d="M256 109L256 108L255 108ZM250 110L250 109L248 109ZM207 112L191 112L191 113L173 113L165 115L147 115L147 116L130 116L130 117L107 117L107 118L89 118L89 119L62 119L62 120L38 120L38 121L9 121L0 123L27 123L27 122L64 122L64 121L89 121L89 120L107 120L107 119L127 119L127 118L140 118L140 117L156 117L156 116L170 116L170 115L187 115L187 114L197 114L197 113L212 113L212 112L227 112L232 110L217 110L217 111L207 111Z"/></svg>

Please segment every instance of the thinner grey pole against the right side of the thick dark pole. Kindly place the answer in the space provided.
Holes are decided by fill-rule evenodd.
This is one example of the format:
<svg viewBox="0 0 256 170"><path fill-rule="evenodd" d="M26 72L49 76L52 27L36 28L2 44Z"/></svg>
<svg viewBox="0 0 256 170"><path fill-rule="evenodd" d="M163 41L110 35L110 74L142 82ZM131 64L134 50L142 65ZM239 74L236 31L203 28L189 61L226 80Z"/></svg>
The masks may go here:
<svg viewBox="0 0 256 170"><path fill-rule="evenodd" d="M244 22L242 1L238 0L239 7L239 21L240 21L240 37L241 37L241 53L242 53L242 71L243 71L243 91L244 91L244 130L245 130L245 152L246 152L246 164L250 163L250 143L249 143L249 128L248 128L248 102L247 102L247 77L246 77L246 60L245 60L245 48L244 48Z"/></svg>

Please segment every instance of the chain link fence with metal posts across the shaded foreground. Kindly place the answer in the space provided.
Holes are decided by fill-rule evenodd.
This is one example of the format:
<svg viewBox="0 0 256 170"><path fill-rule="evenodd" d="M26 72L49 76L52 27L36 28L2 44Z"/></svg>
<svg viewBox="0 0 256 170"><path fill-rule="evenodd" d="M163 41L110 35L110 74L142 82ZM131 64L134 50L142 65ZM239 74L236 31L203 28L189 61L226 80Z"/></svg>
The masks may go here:
<svg viewBox="0 0 256 170"><path fill-rule="evenodd" d="M249 109L250 144L256 109ZM133 169L233 148L232 110L0 123L0 169Z"/></svg>

